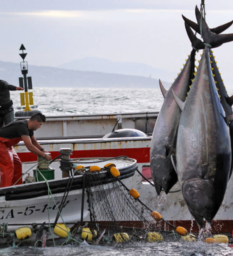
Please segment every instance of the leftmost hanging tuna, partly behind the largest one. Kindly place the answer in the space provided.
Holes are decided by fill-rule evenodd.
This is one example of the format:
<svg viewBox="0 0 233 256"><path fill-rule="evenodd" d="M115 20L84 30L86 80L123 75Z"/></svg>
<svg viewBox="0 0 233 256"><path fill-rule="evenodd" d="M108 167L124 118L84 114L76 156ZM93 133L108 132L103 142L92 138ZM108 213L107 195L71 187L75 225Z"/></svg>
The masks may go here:
<svg viewBox="0 0 233 256"><path fill-rule="evenodd" d="M195 67L195 50L192 50L181 73L172 85L173 90L183 101L187 96ZM176 133L181 110L174 100L171 89L166 91L159 80L160 89L164 96L159 116L156 120L150 146L150 168L155 189L159 195L162 188L167 194L177 182L177 175L171 162L174 153Z"/></svg>

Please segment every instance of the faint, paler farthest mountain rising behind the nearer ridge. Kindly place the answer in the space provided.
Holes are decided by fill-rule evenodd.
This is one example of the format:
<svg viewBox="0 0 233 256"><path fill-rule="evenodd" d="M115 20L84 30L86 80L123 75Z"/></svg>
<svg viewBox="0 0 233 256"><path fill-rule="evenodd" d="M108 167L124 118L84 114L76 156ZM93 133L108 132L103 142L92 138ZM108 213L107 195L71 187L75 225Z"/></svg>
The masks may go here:
<svg viewBox="0 0 233 256"><path fill-rule="evenodd" d="M176 78L177 76L176 72L170 72L163 69L155 69L147 64L132 62L113 62L108 59L101 59L95 57L85 57L83 59L72 60L57 67L70 70L96 71L132 76L145 76L155 79L163 78L163 80L166 80L167 82L174 81L174 78Z"/></svg>

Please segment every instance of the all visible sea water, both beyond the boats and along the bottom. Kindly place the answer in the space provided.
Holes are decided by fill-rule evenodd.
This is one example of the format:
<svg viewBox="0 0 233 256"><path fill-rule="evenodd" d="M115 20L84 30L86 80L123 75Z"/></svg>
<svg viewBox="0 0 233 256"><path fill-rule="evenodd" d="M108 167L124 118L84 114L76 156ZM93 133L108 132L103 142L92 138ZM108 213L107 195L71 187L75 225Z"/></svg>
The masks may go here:
<svg viewBox="0 0 233 256"><path fill-rule="evenodd" d="M229 95L232 95L229 92ZM12 91L14 109L22 111L19 92ZM160 89L125 89L125 88L35 88L33 89L34 106L46 116L87 115L108 113L129 113L159 111L163 96ZM195 242L154 242L127 243L116 245L65 245L46 248L22 246L0 249L0 256L45 255L45 256L91 256L91 255L182 255L214 256L233 255L233 248L227 244L207 244Z"/></svg>

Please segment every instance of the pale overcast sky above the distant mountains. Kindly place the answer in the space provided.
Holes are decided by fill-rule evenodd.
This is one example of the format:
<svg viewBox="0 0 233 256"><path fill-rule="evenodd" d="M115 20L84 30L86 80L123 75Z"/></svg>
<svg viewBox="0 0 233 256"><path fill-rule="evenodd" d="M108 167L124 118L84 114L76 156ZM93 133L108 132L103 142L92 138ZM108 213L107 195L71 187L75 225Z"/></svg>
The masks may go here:
<svg viewBox="0 0 233 256"><path fill-rule="evenodd" d="M178 73L192 50L181 14L196 21L196 4L201 0L0 0L0 60L19 63L23 43L29 68L99 57ZM232 0L205 6L209 27L233 19ZM213 49L227 88L233 88L232 48L230 42Z"/></svg>

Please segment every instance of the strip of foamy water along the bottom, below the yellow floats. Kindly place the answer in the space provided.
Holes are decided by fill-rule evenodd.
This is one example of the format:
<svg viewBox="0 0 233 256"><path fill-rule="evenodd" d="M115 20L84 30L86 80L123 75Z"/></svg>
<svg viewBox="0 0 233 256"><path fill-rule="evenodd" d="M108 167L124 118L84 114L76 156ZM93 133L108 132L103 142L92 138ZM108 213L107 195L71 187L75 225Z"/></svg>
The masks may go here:
<svg viewBox="0 0 233 256"><path fill-rule="evenodd" d="M1 256L223 256L233 255L232 248L227 244L207 244L204 242L155 242L155 243L134 243L134 244L117 244L115 246L101 245L67 245L46 248L19 247L0 250Z"/></svg>

